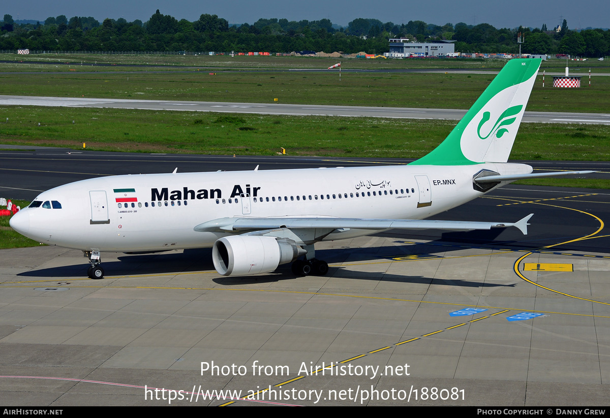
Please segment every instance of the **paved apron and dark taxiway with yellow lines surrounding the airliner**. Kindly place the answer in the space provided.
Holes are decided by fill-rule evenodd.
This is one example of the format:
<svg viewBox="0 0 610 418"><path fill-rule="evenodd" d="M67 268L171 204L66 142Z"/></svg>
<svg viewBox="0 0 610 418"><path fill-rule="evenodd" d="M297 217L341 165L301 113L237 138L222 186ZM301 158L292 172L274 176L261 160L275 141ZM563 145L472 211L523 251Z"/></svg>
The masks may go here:
<svg viewBox="0 0 610 418"><path fill-rule="evenodd" d="M66 180L176 165L405 162L67 152L0 152L0 193L31 199ZM589 164L609 171L597 162L546 169ZM104 253L106 278L90 280L79 251L0 250L0 398L53 407L170 397L215 406L608 405L610 194L509 186L437 218L528 213L527 236L390 231L323 243L325 277L294 277L285 266L222 277L203 249ZM215 390L237 399L203 399ZM249 393L254 400L242 399Z"/></svg>

